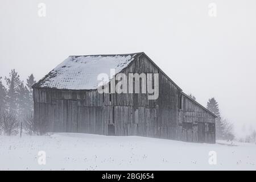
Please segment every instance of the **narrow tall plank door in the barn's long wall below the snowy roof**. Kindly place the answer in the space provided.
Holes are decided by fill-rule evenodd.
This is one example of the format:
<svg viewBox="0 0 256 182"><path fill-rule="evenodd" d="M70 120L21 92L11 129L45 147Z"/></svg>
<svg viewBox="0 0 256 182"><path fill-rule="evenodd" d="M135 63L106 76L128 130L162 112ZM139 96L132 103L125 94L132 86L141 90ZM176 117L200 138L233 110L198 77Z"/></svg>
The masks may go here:
<svg viewBox="0 0 256 182"><path fill-rule="evenodd" d="M68 100L67 132L77 133L77 101Z"/></svg>

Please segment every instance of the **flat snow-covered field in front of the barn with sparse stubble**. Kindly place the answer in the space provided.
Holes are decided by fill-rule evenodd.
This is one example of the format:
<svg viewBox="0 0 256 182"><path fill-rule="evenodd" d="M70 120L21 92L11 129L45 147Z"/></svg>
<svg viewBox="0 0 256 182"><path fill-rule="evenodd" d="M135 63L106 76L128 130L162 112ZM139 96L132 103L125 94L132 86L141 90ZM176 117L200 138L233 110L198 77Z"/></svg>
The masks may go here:
<svg viewBox="0 0 256 182"><path fill-rule="evenodd" d="M0 170L256 170L256 144L220 142L71 133L0 136ZM38 163L39 151L46 152L45 165ZM208 162L210 151L216 151L216 165Z"/></svg>

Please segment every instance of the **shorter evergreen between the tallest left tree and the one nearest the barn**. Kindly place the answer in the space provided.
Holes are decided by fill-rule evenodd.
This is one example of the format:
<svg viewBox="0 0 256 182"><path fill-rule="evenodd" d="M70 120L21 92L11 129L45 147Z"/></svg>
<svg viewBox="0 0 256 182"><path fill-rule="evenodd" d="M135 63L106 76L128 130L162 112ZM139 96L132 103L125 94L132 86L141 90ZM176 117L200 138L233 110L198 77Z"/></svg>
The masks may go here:
<svg viewBox="0 0 256 182"><path fill-rule="evenodd" d="M17 92L18 118L20 121L23 121L26 115L32 111L30 91L28 90L27 86L24 86L23 82L21 82L18 86Z"/></svg>

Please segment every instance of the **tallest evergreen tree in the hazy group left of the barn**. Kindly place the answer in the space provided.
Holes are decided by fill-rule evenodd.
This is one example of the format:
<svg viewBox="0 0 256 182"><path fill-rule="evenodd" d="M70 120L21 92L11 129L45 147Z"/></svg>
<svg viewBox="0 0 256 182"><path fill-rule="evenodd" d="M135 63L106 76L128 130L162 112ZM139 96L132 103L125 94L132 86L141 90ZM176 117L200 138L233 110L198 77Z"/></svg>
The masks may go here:
<svg viewBox="0 0 256 182"><path fill-rule="evenodd" d="M9 77L5 77L5 80L7 84L7 109L16 115L18 111L18 87L20 85L19 75L15 69L12 69Z"/></svg>

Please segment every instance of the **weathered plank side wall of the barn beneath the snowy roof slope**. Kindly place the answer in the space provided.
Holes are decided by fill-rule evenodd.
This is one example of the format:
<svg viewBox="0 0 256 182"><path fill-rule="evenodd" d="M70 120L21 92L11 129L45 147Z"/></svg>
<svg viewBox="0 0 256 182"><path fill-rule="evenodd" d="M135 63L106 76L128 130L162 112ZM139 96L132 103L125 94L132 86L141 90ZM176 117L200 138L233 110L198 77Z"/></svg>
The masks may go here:
<svg viewBox="0 0 256 182"><path fill-rule="evenodd" d="M51 132L104 134L102 104L97 90L34 88L35 119Z"/></svg>

